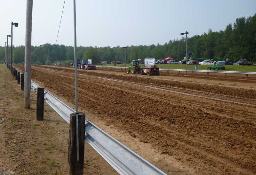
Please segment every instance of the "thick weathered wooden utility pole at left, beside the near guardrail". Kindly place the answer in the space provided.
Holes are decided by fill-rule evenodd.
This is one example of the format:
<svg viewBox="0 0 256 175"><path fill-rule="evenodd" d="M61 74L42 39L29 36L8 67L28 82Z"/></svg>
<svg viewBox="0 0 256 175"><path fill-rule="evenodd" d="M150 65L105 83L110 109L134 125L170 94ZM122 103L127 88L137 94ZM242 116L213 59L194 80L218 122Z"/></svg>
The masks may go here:
<svg viewBox="0 0 256 175"><path fill-rule="evenodd" d="M24 78L24 108L30 109L30 84L31 84L31 30L32 30L33 0L27 0L26 12L26 39L25 39L25 78Z"/></svg>

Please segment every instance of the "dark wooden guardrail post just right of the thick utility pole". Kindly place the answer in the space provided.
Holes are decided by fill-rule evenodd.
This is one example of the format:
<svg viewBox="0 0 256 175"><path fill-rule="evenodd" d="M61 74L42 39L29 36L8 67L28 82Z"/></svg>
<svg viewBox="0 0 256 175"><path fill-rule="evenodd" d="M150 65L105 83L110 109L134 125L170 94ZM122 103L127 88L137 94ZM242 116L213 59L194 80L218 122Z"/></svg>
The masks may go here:
<svg viewBox="0 0 256 175"><path fill-rule="evenodd" d="M36 120L44 120L44 88L37 88Z"/></svg>

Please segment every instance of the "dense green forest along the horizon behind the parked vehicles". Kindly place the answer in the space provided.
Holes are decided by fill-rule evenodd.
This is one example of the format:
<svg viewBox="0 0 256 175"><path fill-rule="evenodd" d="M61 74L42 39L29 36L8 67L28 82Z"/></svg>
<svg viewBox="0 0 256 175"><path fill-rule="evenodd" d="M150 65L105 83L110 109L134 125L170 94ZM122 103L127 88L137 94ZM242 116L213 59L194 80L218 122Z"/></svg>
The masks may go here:
<svg viewBox="0 0 256 175"><path fill-rule="evenodd" d="M256 14L248 18L237 18L233 24L228 24L225 30L213 32L209 29L207 33L188 37L188 51L192 52L192 58L229 58L231 62L240 59L256 60ZM9 47L9 58L10 58ZM25 46L14 47L14 63L24 64ZM163 45L138 45L127 46L127 61L144 58L164 59L168 56L175 60L185 57L186 42L182 37L180 40L171 39ZM116 47L95 47L95 64L98 61L122 61L124 62L125 49ZM93 59L92 47L77 47L77 59ZM0 61L5 60L5 47L0 47ZM43 44L32 46L31 63L47 64L60 61L68 64L74 60L74 47L59 44Z"/></svg>

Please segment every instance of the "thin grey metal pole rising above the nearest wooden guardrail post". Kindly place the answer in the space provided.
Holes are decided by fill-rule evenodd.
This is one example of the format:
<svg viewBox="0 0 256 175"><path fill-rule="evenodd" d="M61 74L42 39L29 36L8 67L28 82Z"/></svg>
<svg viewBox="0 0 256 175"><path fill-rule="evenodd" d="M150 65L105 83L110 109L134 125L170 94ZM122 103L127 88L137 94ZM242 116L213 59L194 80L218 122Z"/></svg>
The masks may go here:
<svg viewBox="0 0 256 175"><path fill-rule="evenodd" d="M75 57L75 97L76 113L78 113L78 93L77 93L77 62L76 62L76 0L73 1L74 7L74 57Z"/></svg>

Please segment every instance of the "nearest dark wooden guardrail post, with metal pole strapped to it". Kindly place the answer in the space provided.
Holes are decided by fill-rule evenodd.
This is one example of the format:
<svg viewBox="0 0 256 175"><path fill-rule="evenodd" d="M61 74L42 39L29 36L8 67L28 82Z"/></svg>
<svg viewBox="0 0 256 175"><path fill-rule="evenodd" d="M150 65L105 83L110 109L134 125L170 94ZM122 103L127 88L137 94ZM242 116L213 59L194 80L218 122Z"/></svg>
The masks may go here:
<svg viewBox="0 0 256 175"><path fill-rule="evenodd" d="M70 175L84 174L85 114L70 114L68 139L68 164Z"/></svg>

